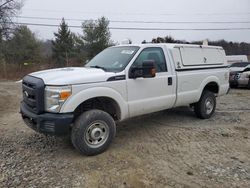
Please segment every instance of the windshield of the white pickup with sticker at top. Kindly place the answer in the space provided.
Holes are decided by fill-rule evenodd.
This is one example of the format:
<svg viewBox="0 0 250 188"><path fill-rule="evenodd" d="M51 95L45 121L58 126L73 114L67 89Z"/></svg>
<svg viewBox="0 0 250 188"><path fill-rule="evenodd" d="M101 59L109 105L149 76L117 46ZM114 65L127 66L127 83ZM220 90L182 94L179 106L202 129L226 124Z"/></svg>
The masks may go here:
<svg viewBox="0 0 250 188"><path fill-rule="evenodd" d="M108 72L120 72L139 50L138 46L111 47L95 56L85 67L101 68Z"/></svg>

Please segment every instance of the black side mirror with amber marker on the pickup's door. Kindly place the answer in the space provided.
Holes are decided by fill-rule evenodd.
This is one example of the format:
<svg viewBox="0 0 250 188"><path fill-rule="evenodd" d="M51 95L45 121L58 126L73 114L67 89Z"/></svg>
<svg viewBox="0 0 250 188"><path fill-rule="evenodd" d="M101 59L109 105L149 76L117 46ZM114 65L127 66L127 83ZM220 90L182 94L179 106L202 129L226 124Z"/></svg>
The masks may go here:
<svg viewBox="0 0 250 188"><path fill-rule="evenodd" d="M142 67L133 67L130 71L130 78L153 78L156 74L155 61L145 60Z"/></svg>

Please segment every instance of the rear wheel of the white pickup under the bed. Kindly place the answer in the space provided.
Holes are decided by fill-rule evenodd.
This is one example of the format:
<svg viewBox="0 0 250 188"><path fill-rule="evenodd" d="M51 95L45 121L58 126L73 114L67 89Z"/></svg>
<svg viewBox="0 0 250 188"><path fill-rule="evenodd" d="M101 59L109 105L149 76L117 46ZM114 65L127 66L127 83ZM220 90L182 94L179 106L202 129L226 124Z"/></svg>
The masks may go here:
<svg viewBox="0 0 250 188"><path fill-rule="evenodd" d="M211 91L203 91L200 100L194 105L194 112L198 118L210 118L216 108L216 98Z"/></svg>

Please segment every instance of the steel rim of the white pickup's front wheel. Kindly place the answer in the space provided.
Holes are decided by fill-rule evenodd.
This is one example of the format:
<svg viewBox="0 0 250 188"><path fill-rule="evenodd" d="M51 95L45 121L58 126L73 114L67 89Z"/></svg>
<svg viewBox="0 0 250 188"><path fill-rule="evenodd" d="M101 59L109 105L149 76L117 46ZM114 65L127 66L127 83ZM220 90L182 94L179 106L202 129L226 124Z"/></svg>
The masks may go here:
<svg viewBox="0 0 250 188"><path fill-rule="evenodd" d="M102 146L108 139L109 127L104 121L93 122L85 132L86 144L91 148Z"/></svg>

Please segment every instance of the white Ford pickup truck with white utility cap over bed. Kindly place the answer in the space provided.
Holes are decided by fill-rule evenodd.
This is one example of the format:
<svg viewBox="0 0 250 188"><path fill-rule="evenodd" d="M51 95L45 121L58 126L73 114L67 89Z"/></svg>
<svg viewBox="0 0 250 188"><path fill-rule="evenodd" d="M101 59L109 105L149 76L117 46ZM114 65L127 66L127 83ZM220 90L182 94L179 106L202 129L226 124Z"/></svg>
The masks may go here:
<svg viewBox="0 0 250 188"><path fill-rule="evenodd" d="M59 68L23 78L21 114L46 134L70 133L85 155L105 151L115 122L191 105L210 118L216 97L229 90L229 69L221 47L133 44L105 49L82 68Z"/></svg>

